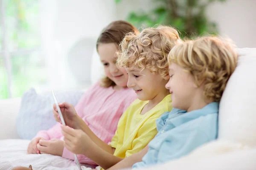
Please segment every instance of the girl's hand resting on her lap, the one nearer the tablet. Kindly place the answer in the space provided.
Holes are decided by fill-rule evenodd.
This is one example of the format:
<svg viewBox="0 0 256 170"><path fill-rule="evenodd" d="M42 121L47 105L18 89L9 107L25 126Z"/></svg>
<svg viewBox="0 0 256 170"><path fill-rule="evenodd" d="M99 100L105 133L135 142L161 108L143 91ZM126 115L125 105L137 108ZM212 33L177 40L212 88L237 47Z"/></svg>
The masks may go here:
<svg viewBox="0 0 256 170"><path fill-rule="evenodd" d="M64 150L64 141L59 139L51 139L49 141L39 140L37 144L38 150L41 154L51 154L56 156L62 156Z"/></svg>

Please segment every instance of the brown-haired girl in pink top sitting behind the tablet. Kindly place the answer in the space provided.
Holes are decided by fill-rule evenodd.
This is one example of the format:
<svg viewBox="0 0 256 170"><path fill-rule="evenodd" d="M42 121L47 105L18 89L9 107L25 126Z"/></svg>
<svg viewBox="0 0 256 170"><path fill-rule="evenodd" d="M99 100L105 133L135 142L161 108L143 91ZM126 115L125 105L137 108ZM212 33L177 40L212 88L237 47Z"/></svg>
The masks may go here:
<svg viewBox="0 0 256 170"><path fill-rule="evenodd" d="M87 126L105 143L111 142L117 123L126 108L137 95L127 88L128 75L124 68L116 67L116 51L125 34L137 29L125 21L110 23L100 34L96 48L99 53L106 77L90 87L76 105L76 113ZM47 153L74 160L73 153L64 147L61 140L61 124L49 130L39 131L29 143L28 153ZM80 163L95 164L83 155L78 155Z"/></svg>

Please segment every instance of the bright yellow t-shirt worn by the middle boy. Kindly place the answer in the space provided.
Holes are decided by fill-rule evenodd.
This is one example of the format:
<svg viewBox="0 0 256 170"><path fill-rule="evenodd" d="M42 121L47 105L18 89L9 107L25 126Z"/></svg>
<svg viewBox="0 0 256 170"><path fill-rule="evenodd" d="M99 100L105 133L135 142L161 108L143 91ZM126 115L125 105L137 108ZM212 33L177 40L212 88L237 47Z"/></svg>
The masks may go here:
<svg viewBox="0 0 256 170"><path fill-rule="evenodd" d="M125 158L142 150L157 134L156 119L171 111L171 94L147 113L141 111L148 101L136 99L121 116L111 147L116 148L114 156Z"/></svg>

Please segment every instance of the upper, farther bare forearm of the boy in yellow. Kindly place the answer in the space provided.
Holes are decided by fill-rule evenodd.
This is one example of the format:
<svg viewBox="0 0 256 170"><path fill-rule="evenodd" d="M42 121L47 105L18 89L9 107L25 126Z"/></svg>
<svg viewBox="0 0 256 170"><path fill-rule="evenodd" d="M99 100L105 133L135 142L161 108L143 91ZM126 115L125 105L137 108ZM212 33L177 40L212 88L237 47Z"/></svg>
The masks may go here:
<svg viewBox="0 0 256 170"><path fill-rule="evenodd" d="M80 118L80 117L79 117ZM89 137L90 139L92 139L92 141L97 144L99 147L101 147L103 150L105 150L106 152L110 153L111 155L113 155L115 149L112 148L110 145L106 144L105 142L103 142L101 139L98 138L98 136L96 136L92 130L90 130L90 128L86 125L86 123L84 122L83 119L78 119L78 129L83 130Z"/></svg>

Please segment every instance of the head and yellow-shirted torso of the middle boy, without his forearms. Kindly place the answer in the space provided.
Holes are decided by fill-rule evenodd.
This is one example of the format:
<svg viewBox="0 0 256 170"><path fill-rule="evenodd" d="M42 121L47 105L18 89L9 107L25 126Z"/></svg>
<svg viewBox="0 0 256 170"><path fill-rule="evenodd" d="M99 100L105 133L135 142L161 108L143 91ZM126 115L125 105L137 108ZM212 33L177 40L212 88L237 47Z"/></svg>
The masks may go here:
<svg viewBox="0 0 256 170"><path fill-rule="evenodd" d="M168 52L180 42L171 27L147 28L138 36L127 35L122 41L117 64L124 67L135 100L119 120L111 147L114 156L125 158L139 152L157 134L156 119L170 111L171 94L165 89L168 75Z"/></svg>

